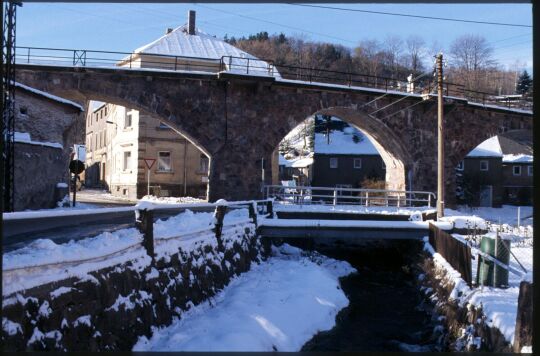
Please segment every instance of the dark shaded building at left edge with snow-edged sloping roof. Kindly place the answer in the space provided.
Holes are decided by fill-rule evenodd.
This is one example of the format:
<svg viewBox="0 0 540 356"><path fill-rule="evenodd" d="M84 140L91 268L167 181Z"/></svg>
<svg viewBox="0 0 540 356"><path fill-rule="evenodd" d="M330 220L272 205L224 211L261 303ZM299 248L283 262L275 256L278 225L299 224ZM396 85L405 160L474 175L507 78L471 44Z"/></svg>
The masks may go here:
<svg viewBox="0 0 540 356"><path fill-rule="evenodd" d="M67 194L72 147L84 141L84 108L15 83L14 210L53 208Z"/></svg>

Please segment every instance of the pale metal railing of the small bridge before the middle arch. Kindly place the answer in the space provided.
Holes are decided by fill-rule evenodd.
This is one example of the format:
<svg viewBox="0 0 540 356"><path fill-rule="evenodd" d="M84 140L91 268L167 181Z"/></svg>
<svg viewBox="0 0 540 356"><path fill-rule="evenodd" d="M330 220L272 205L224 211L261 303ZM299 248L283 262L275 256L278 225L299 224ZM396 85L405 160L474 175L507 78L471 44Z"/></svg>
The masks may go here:
<svg viewBox="0 0 540 356"><path fill-rule="evenodd" d="M330 187L287 187L265 185L264 198L274 198L277 202L289 204L362 205L362 206L433 206L436 196L432 192L330 188Z"/></svg>

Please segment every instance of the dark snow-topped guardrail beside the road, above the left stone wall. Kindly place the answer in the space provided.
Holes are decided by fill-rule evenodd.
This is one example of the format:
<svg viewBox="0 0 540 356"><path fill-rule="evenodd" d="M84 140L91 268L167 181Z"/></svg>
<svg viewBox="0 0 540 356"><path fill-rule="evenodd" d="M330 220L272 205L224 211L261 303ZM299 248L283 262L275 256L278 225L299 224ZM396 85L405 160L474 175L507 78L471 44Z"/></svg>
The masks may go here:
<svg viewBox="0 0 540 356"><path fill-rule="evenodd" d="M253 205L257 208L253 212ZM270 206L269 206L270 205ZM95 236L102 232L138 227L149 229L158 219L168 218L186 210L212 212L218 207L250 209L250 217L272 211L271 200L250 200L219 203L152 204L144 202L132 207L71 210L58 212L4 213L4 250L9 251L43 238L67 242ZM221 208L223 209L223 208ZM144 211L151 211L145 216ZM140 218L143 216L144 218ZM151 216L152 222L148 220ZM141 225L142 224L142 225Z"/></svg>

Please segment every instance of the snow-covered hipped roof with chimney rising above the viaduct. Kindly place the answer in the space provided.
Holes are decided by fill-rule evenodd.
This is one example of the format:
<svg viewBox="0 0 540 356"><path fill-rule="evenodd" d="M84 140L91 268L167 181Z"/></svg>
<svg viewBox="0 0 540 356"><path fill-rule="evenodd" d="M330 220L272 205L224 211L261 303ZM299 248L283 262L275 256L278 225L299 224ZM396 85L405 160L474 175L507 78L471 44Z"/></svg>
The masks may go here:
<svg viewBox="0 0 540 356"><path fill-rule="evenodd" d="M179 26L157 40L137 48L134 53L213 60L219 60L223 56L238 57L232 58L230 63L226 61L225 64L227 71L242 73L246 73L247 59L249 58L249 74L255 75L269 75L268 70L270 68L269 63L199 29L195 29L195 34L190 35L187 24ZM275 68L272 75L279 77L279 73Z"/></svg>

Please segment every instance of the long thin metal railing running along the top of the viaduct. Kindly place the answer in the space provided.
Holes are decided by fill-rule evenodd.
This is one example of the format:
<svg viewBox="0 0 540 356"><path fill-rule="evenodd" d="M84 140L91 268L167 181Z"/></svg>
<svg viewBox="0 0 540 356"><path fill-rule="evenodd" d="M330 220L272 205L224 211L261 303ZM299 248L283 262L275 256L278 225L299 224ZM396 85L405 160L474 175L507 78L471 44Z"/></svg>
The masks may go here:
<svg viewBox="0 0 540 356"><path fill-rule="evenodd" d="M74 67L102 67L124 69L158 69L168 71L191 71L219 73L230 72L241 75L271 76L287 80L298 80L312 84L334 84L347 87L366 87L384 92L408 92L408 83L396 78L374 76L356 72L343 72L315 67L276 64L273 60L247 57L222 56L218 59L201 57L171 56L163 54L141 54L82 49L59 49L44 47L16 47L16 64L61 65ZM430 94L435 91L432 78L415 82L415 92ZM532 109L532 101L508 98L501 100L495 93L475 91L464 85L445 82L444 95L463 98L482 105L507 108Z"/></svg>

